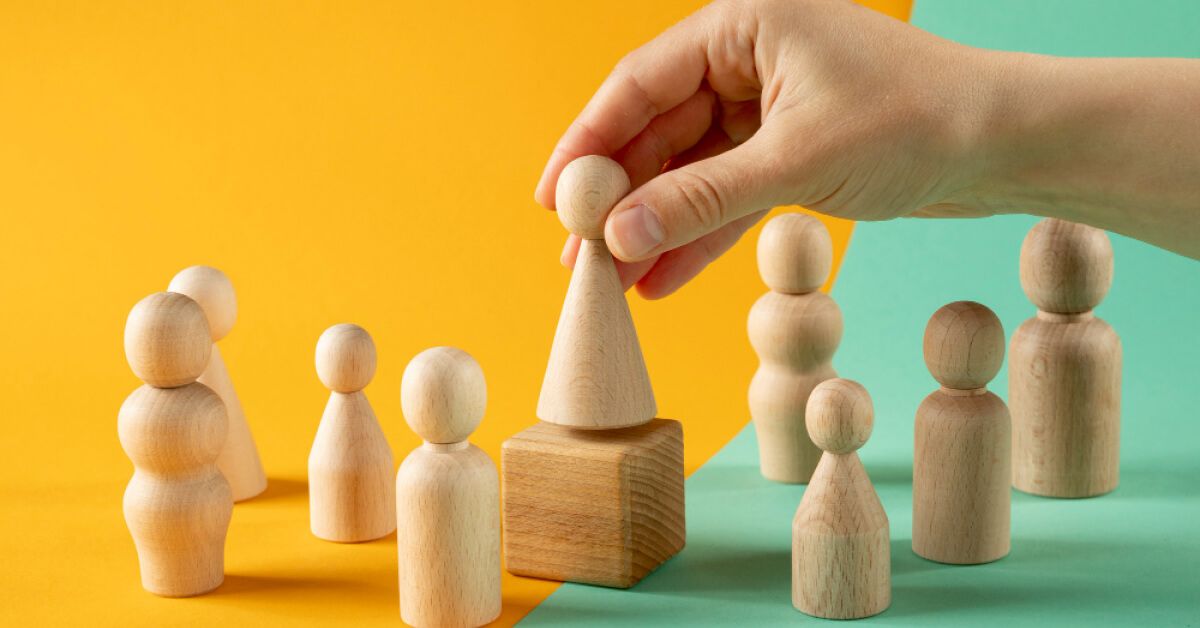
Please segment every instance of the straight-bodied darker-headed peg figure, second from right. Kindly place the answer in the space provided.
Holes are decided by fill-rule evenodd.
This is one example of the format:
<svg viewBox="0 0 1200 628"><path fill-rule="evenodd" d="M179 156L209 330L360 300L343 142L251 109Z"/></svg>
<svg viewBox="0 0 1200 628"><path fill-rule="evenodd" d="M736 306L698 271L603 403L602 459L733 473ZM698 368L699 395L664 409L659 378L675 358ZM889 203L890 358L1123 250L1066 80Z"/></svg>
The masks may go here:
<svg viewBox="0 0 1200 628"><path fill-rule="evenodd" d="M974 564L1008 555L1012 421L988 382L1004 361L1004 328L986 306L958 301L925 327L925 365L942 388L917 408L912 551Z"/></svg>

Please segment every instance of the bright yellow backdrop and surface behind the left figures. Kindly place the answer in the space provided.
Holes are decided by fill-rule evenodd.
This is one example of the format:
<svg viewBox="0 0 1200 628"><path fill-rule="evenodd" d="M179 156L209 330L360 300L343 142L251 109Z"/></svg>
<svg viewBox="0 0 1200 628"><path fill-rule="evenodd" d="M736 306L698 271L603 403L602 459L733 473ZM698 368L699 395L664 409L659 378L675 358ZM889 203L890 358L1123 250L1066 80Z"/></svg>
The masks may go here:
<svg viewBox="0 0 1200 628"><path fill-rule="evenodd" d="M620 55L698 1L0 4L0 624L398 623L395 538L308 533L328 325L379 348L367 394L397 461L420 349L487 373L474 442L530 425L568 271L533 185ZM893 12L907 2L893 0ZM850 223L832 223L839 255ZM676 297L634 298L689 471L746 420L757 231ZM234 513L226 585L145 593L121 519L130 307L224 269L222 351L271 485ZM554 584L505 575L511 623Z"/></svg>

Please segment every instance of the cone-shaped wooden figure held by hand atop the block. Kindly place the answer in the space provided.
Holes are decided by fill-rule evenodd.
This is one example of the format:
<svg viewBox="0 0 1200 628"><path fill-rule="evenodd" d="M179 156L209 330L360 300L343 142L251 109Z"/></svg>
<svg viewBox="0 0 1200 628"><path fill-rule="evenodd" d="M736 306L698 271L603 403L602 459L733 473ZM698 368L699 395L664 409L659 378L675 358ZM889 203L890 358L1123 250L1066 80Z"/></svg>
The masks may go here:
<svg viewBox="0 0 1200 628"><path fill-rule="evenodd" d="M658 413L604 223L629 192L620 165L598 155L566 165L558 178L558 217L583 239L554 331L538 418L605 430L648 423Z"/></svg>

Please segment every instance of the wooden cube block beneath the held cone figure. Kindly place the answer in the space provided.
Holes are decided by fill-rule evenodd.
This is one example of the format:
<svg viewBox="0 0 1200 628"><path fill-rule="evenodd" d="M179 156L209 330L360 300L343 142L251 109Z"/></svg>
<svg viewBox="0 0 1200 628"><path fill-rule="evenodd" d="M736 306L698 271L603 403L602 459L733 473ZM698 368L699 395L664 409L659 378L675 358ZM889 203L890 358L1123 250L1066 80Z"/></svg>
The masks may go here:
<svg viewBox="0 0 1200 628"><path fill-rule="evenodd" d="M504 442L509 572L628 588L683 549L683 426L539 423Z"/></svg>

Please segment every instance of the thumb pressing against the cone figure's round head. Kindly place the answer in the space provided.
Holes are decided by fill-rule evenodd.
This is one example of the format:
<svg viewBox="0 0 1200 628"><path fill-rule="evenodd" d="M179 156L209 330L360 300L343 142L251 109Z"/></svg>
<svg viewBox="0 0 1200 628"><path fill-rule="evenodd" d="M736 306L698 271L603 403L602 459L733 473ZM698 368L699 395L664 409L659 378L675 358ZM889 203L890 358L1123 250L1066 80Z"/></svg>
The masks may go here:
<svg viewBox="0 0 1200 628"><path fill-rule="evenodd" d="M787 204L775 142L760 130L714 157L665 172L617 204L605 223L613 255L637 262L702 238L743 216ZM787 149L780 149L787 150Z"/></svg>

